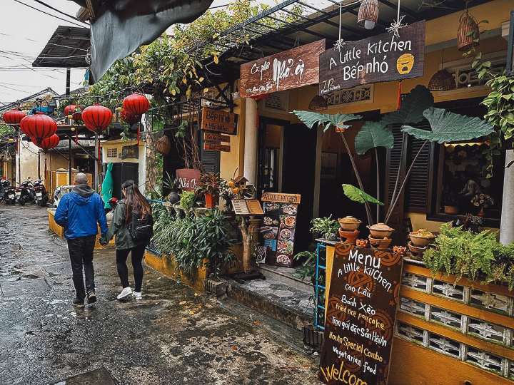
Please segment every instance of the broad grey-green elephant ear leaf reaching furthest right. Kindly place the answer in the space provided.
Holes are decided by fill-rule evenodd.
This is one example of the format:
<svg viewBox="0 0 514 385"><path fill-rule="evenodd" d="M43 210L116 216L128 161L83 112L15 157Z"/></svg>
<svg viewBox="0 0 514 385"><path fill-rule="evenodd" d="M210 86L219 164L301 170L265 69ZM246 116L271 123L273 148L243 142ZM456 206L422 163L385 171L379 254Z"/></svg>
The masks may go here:
<svg viewBox="0 0 514 385"><path fill-rule="evenodd" d="M428 108L423 115L430 123L430 131L410 127L410 125L403 125L402 131L413 135L416 139L437 143L471 140L493 132L493 126L480 118L451 113L443 108Z"/></svg>

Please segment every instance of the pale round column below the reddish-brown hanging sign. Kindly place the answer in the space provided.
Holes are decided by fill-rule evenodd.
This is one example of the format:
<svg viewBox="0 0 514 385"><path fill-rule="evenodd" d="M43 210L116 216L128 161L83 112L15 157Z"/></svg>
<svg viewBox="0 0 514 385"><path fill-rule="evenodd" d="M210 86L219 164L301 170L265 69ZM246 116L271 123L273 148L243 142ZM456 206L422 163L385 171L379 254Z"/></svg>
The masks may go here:
<svg viewBox="0 0 514 385"><path fill-rule="evenodd" d="M244 176L249 183L257 183L257 102L246 98L245 109L245 147L244 147Z"/></svg>

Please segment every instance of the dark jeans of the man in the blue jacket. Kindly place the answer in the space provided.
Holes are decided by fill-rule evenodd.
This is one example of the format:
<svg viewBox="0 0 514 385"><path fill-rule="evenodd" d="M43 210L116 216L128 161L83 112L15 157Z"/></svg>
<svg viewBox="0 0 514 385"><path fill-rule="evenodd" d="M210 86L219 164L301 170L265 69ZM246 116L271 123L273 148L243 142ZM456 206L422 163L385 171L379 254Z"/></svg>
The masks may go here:
<svg viewBox="0 0 514 385"><path fill-rule="evenodd" d="M84 273L86 275L86 289L88 292L94 290L93 252L95 242L96 235L68 240L68 251L71 260L71 270L73 271L76 297L80 299L86 297L82 265L84 265Z"/></svg>

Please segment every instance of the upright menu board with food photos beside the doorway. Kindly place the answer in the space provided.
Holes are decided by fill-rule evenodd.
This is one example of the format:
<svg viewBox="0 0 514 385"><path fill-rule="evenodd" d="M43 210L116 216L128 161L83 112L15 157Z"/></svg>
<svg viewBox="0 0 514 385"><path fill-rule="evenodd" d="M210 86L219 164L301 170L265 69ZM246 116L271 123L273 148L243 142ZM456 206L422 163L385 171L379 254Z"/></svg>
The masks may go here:
<svg viewBox="0 0 514 385"><path fill-rule="evenodd" d="M296 215L301 195L264 193L262 247L258 248L258 261L268 265L291 267L296 230Z"/></svg>

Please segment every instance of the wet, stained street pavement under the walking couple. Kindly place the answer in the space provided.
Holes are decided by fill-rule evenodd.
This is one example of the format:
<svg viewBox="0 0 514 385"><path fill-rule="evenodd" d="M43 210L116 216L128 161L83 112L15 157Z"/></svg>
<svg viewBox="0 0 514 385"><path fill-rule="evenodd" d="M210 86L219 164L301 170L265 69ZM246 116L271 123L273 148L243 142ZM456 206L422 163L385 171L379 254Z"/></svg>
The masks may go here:
<svg viewBox="0 0 514 385"><path fill-rule="evenodd" d="M114 250L95 254L99 302L74 309L47 227L46 209L0 205L0 384L319 384L315 357L148 267L143 299L117 301Z"/></svg>

